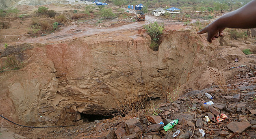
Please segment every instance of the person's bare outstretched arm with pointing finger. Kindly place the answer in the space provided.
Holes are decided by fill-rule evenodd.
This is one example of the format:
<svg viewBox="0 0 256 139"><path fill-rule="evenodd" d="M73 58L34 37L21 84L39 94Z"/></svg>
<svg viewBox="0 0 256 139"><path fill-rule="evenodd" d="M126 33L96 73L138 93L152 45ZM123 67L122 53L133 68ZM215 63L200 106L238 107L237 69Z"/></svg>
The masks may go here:
<svg viewBox="0 0 256 139"><path fill-rule="evenodd" d="M213 21L197 34L208 33L207 41L212 43L219 36L223 36L225 28L255 28L256 27L256 0L243 7L227 13Z"/></svg>

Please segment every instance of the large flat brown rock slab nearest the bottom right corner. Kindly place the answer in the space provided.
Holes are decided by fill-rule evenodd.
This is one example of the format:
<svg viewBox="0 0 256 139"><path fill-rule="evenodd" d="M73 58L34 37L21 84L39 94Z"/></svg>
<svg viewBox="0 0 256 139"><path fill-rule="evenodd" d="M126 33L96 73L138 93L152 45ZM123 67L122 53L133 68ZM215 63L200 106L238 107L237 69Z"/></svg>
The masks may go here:
<svg viewBox="0 0 256 139"><path fill-rule="evenodd" d="M229 130L231 130L234 133L238 131L239 134L249 127L251 127L251 124L249 124L248 122L231 122L227 124L227 128Z"/></svg>

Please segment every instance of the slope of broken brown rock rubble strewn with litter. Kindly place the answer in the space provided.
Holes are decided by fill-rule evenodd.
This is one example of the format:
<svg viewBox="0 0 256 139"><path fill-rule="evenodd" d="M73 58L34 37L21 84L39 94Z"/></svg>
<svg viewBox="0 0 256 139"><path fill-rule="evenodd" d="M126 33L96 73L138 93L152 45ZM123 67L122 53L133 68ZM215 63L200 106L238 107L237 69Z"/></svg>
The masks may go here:
<svg viewBox="0 0 256 139"><path fill-rule="evenodd" d="M175 102L161 103L158 115L100 120L91 133L81 133L76 139L226 139L236 132L233 139L256 139L255 77L234 77L234 80L238 82L227 85L232 86L227 92L221 86L213 86L188 91ZM204 96L206 92L213 96L212 100ZM205 105L207 101L214 104ZM218 122L225 115L228 118ZM166 125L173 119L179 122L167 132L163 124L158 124ZM180 133L173 137L177 130Z"/></svg>

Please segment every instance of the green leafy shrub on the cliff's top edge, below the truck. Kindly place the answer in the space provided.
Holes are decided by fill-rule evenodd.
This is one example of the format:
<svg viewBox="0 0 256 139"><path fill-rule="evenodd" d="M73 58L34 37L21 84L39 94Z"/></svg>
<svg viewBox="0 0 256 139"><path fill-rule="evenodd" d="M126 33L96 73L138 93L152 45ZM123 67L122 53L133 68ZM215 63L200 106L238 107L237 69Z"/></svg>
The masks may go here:
<svg viewBox="0 0 256 139"><path fill-rule="evenodd" d="M148 25L143 25L143 28L147 30L146 32L150 35L153 41L158 41L159 36L163 33L164 25L158 25L157 22L149 23Z"/></svg>

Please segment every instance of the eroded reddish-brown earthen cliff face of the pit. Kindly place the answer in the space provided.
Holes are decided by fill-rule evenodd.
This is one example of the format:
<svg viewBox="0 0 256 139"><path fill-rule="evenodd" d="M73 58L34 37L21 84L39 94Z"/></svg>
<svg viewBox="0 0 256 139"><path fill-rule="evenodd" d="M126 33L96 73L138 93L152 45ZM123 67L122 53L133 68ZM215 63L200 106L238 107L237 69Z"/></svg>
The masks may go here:
<svg viewBox="0 0 256 139"><path fill-rule="evenodd" d="M165 32L158 51L149 43L143 34L33 44L15 53L23 68L0 73L0 113L24 124L75 121L80 113L111 111L132 86L151 98L165 99L172 86L199 88L195 80L216 53L215 45L204 47L208 43L190 31Z"/></svg>

